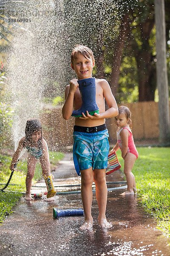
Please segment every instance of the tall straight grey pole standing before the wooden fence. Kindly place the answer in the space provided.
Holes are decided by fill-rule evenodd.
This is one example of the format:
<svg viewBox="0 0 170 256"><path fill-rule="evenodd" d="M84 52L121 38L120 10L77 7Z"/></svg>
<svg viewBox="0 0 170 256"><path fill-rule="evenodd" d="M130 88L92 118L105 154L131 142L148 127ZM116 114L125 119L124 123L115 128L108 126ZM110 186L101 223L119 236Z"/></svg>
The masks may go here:
<svg viewBox="0 0 170 256"><path fill-rule="evenodd" d="M155 0L156 21L156 79L159 91L159 140L170 141L170 106L166 62L166 32L164 0Z"/></svg>

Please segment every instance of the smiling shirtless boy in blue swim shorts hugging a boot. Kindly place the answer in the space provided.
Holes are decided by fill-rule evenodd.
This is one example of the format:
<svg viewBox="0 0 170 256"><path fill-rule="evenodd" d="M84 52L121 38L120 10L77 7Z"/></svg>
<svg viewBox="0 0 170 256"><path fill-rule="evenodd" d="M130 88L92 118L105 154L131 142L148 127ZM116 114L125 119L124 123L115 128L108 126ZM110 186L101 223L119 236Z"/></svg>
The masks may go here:
<svg viewBox="0 0 170 256"><path fill-rule="evenodd" d="M77 45L73 49L71 53L71 68L77 74L78 80L91 78L94 64L95 60L91 49L83 45ZM71 117L73 108L77 110L82 105L78 80L72 79L65 88L65 103L62 108L62 116L65 120ZM107 111L105 111L104 98L109 107ZM96 79L96 103L99 107L99 114L94 113L94 116L91 116L86 111L86 115L82 113L82 117L75 118L74 125L73 154L74 157L77 157L77 163L81 172L81 195L85 212L85 222L80 227L81 230L90 230L93 226L91 215L93 181L96 185L99 225L103 228L112 226L108 223L105 216L108 196L105 169L108 164L109 151L108 130L105 126L105 118L117 116L118 107L111 88L104 79ZM82 148L85 149L86 154L83 154Z"/></svg>

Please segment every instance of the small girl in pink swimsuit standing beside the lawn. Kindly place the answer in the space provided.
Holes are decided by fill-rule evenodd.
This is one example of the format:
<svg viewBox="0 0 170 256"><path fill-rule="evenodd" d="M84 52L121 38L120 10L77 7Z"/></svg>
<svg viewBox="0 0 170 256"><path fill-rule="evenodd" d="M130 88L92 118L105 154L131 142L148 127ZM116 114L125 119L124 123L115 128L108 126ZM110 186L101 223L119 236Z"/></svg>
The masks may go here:
<svg viewBox="0 0 170 256"><path fill-rule="evenodd" d="M125 106L119 107L119 115L115 117L117 129L117 143L112 151L117 151L119 148L122 151L122 157L125 160L124 173L127 180L127 191L121 195L130 195L136 192L135 176L132 173L133 165L138 158L138 151L133 141L131 125L131 112Z"/></svg>

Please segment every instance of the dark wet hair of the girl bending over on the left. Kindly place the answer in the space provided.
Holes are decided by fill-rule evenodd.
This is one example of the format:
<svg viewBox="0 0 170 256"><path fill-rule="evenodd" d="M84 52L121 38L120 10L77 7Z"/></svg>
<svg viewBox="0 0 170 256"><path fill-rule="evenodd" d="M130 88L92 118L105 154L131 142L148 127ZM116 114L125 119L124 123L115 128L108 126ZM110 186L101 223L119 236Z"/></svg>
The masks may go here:
<svg viewBox="0 0 170 256"><path fill-rule="evenodd" d="M25 129L26 142L32 143L31 137L35 131L41 132L41 138L40 140L38 140L38 145L40 148L42 148L42 125L40 121L37 119L33 119L33 118L28 119L26 122L26 129Z"/></svg>

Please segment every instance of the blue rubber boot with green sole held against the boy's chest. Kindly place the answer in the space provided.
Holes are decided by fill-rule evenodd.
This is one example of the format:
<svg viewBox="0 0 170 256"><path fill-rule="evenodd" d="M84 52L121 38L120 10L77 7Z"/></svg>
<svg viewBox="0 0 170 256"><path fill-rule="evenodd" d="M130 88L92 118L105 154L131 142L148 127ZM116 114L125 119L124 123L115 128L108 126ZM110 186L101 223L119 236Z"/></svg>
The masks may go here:
<svg viewBox="0 0 170 256"><path fill-rule="evenodd" d="M74 110L71 116L80 117L82 113L86 115L86 111L88 111L91 116L94 116L94 113L99 114L99 107L96 103L95 78L82 79L77 82L82 96L82 106L78 110Z"/></svg>

